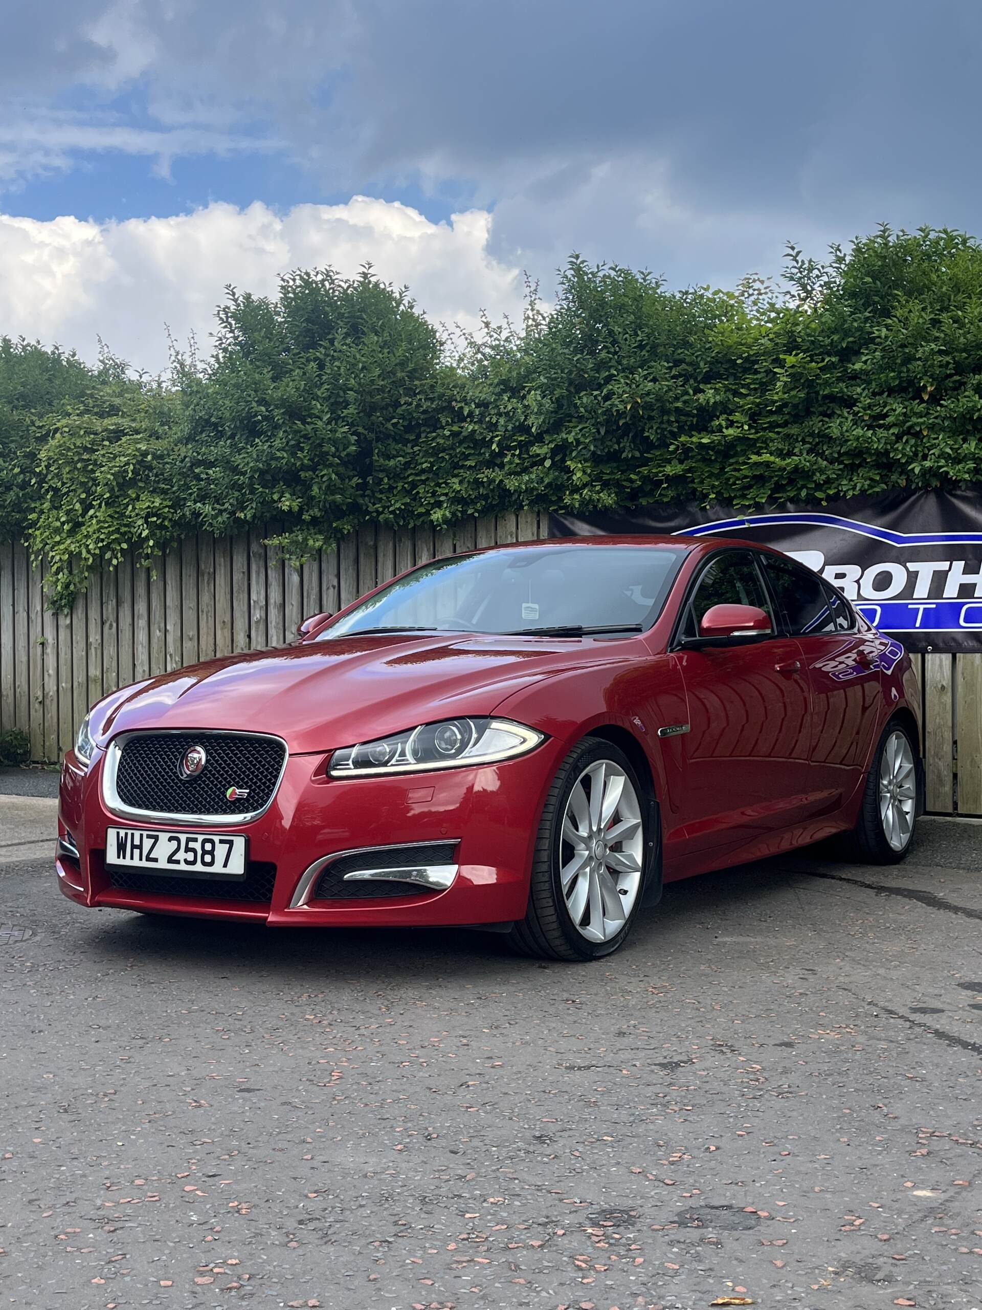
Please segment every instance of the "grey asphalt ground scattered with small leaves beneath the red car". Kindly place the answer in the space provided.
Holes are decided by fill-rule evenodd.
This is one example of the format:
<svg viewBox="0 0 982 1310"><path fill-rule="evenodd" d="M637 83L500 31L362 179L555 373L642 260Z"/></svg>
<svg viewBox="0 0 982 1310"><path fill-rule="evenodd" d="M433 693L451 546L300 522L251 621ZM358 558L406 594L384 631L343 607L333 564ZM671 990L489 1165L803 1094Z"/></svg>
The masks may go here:
<svg viewBox="0 0 982 1310"><path fill-rule="evenodd" d="M570 965L84 910L52 825L0 796L0 1305L982 1306L982 827Z"/></svg>

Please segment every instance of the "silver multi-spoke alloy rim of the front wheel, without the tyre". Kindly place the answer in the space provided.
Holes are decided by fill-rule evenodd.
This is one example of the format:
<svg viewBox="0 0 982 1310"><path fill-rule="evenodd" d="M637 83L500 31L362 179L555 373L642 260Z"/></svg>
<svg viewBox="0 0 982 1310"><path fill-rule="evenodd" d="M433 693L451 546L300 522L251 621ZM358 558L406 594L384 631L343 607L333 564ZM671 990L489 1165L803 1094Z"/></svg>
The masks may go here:
<svg viewBox="0 0 982 1310"><path fill-rule="evenodd" d="M559 879L573 926L608 942L631 916L642 882L644 824L634 783L613 760L576 779L559 834Z"/></svg>

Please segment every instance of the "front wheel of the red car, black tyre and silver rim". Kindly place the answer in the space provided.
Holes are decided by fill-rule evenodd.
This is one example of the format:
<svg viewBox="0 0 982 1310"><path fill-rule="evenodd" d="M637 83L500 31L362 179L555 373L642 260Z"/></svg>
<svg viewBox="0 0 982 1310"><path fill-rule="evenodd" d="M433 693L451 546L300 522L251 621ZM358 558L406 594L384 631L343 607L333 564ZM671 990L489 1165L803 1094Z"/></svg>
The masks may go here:
<svg viewBox="0 0 982 1310"><path fill-rule="evenodd" d="M627 939L659 858L657 806L631 761L584 738L563 760L542 811L525 918L509 933L522 955L596 960Z"/></svg>

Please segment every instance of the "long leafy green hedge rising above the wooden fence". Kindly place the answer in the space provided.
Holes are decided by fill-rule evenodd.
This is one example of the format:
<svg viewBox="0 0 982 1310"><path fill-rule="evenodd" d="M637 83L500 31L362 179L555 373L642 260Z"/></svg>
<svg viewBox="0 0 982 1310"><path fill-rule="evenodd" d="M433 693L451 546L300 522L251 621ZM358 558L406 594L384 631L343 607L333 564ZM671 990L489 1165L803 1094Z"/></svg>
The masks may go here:
<svg viewBox="0 0 982 1310"><path fill-rule="evenodd" d="M51 601L128 548L284 523L292 558L361 521L513 508L822 502L982 481L982 248L882 228L780 287L670 291L572 258L549 312L448 343L369 270L229 290L211 360L134 380L0 348L0 537Z"/></svg>

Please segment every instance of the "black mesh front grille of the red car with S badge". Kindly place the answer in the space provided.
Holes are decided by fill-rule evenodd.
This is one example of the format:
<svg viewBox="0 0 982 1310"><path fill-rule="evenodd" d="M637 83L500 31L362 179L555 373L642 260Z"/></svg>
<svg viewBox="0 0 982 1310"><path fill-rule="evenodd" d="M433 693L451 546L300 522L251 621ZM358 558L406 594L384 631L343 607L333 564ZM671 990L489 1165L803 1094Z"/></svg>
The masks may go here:
<svg viewBox="0 0 982 1310"><path fill-rule="evenodd" d="M207 760L192 778L181 762L192 747ZM117 795L130 810L158 815L228 817L257 814L272 800L287 748L276 738L249 732L140 732L119 752ZM241 795L229 800L229 789Z"/></svg>

